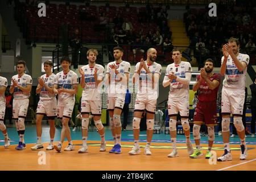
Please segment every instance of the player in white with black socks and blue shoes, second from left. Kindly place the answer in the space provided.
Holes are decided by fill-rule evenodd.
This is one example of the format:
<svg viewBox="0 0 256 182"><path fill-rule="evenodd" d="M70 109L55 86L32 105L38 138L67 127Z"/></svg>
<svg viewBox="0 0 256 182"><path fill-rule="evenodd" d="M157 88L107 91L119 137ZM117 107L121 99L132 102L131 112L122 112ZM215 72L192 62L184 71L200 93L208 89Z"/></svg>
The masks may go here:
<svg viewBox="0 0 256 182"><path fill-rule="evenodd" d="M13 119L15 119L16 130L19 134L19 144L16 150L26 149L24 142L25 133L25 118L27 115L27 108L29 104L28 98L32 89L32 78L30 75L24 73L26 63L19 60L16 63L16 70L18 75L11 78L10 93L13 93Z"/></svg>

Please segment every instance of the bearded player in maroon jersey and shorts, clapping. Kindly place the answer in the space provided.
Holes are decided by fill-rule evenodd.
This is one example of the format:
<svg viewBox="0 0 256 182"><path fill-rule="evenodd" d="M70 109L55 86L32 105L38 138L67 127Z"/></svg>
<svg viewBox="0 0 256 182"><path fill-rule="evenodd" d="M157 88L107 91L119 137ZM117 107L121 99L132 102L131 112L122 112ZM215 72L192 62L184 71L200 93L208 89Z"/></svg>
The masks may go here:
<svg viewBox="0 0 256 182"><path fill-rule="evenodd" d="M208 151L205 155L209 159L214 142L214 126L217 125L217 93L220 85L220 75L213 73L213 60L207 59L204 62L204 68L200 69L200 75L197 77L196 83L193 85L193 91L198 90L198 100L193 119L193 137L196 143L195 152L190 158L199 158L203 155L200 150L200 127L203 123L208 128Z"/></svg>

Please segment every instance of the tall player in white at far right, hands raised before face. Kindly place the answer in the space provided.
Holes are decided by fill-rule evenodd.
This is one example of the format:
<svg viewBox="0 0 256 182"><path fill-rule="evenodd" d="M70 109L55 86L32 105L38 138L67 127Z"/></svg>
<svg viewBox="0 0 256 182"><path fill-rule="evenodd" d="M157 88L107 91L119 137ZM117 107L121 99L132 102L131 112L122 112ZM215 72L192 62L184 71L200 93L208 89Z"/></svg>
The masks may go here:
<svg viewBox="0 0 256 182"><path fill-rule="evenodd" d="M234 126L241 140L240 159L247 157L247 147L245 144L245 127L242 123L243 103L245 101L245 81L249 56L239 53L240 43L236 38L230 38L228 44L222 47L221 75L225 75L221 94L222 113L222 137L224 143L224 154L218 161L232 160L229 149L229 125L230 113L234 118Z"/></svg>

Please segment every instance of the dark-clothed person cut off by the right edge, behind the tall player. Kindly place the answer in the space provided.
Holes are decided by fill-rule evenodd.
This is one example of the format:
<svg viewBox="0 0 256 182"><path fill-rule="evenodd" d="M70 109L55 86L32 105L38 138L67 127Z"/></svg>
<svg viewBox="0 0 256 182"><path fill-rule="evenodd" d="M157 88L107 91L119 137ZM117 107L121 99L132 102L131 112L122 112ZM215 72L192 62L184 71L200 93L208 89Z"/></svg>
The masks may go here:
<svg viewBox="0 0 256 182"><path fill-rule="evenodd" d="M250 85L251 89L251 137L255 135L255 121L256 121L256 75L253 84Z"/></svg>

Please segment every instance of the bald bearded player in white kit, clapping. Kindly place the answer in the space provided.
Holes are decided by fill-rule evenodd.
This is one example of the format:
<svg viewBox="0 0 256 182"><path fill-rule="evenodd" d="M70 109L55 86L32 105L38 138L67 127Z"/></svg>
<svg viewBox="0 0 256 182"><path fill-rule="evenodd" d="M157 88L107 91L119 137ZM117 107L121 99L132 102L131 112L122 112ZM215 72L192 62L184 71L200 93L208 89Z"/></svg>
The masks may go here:
<svg viewBox="0 0 256 182"><path fill-rule="evenodd" d="M161 76L162 66L155 62L156 49L147 50L147 60L143 58L135 66L133 83L137 83L138 92L134 106L133 118L133 135L134 147L129 151L130 155L137 155L141 152L139 148L139 123L141 122L142 113L146 109L147 123L147 145L144 149L145 155L152 155L150 143L154 129L154 115L156 109L156 100L158 98L158 81Z"/></svg>

